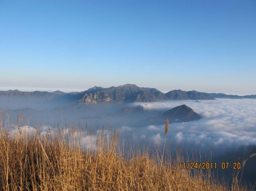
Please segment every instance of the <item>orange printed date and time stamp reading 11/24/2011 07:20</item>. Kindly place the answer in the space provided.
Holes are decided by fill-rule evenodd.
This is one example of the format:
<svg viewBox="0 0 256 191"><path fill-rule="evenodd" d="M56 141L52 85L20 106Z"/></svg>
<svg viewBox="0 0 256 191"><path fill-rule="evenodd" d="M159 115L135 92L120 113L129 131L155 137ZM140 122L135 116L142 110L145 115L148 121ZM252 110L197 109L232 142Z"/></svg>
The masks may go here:
<svg viewBox="0 0 256 191"><path fill-rule="evenodd" d="M217 169L217 163L195 162L179 163L180 169ZM240 169L241 163L221 163L221 169Z"/></svg>

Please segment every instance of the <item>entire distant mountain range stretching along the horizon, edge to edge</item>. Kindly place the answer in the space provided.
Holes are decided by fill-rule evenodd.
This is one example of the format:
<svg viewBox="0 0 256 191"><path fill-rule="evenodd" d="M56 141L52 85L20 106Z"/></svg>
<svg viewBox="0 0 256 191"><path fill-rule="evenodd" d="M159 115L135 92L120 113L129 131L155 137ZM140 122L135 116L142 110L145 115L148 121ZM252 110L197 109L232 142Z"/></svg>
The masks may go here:
<svg viewBox="0 0 256 191"><path fill-rule="evenodd" d="M84 92L64 93L55 92L22 92L19 90L0 91L0 98L32 98L34 100L72 101L77 106L97 103L133 103L155 102L166 100L214 100L215 98L256 98L256 95L237 96L223 93L203 93L197 91L172 90L162 93L156 88L140 88L134 84L125 84L118 87L93 87Z"/></svg>

